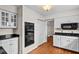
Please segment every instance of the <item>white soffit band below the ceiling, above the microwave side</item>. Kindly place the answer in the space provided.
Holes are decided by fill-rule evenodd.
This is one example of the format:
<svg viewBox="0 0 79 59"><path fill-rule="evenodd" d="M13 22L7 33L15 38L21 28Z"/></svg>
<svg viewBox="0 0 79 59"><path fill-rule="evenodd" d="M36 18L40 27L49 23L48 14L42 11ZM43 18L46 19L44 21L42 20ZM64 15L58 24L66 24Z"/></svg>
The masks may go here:
<svg viewBox="0 0 79 59"><path fill-rule="evenodd" d="M79 15L79 9L66 10L61 12L52 13L52 15L47 16L48 19L51 18L61 18L66 16Z"/></svg>

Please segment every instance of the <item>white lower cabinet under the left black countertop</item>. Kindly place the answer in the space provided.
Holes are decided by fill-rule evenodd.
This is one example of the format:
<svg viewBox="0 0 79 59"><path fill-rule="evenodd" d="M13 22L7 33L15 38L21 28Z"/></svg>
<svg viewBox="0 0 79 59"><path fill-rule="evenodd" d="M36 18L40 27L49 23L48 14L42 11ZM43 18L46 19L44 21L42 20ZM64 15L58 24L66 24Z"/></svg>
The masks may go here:
<svg viewBox="0 0 79 59"><path fill-rule="evenodd" d="M8 54L18 54L18 38L2 40L2 46Z"/></svg>

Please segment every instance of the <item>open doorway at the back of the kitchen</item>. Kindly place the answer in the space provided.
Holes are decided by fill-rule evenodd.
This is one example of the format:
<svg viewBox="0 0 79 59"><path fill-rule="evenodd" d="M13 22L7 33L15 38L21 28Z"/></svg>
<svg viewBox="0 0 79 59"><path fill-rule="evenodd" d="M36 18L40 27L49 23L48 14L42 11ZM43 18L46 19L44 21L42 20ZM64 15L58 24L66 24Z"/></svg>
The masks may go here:
<svg viewBox="0 0 79 59"><path fill-rule="evenodd" d="M53 44L54 20L47 22L47 42Z"/></svg>

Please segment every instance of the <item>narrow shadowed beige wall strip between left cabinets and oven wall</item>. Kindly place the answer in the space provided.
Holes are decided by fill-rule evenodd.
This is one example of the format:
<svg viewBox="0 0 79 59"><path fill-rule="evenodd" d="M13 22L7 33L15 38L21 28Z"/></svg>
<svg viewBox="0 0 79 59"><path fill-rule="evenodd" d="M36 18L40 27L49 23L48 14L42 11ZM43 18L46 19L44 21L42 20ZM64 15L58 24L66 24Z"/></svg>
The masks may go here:
<svg viewBox="0 0 79 59"><path fill-rule="evenodd" d="M18 51L22 53L22 6L17 7L17 28L13 30L15 34L19 34Z"/></svg>

